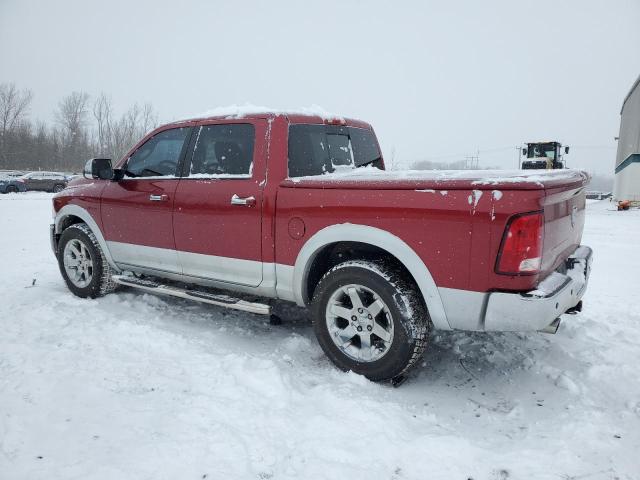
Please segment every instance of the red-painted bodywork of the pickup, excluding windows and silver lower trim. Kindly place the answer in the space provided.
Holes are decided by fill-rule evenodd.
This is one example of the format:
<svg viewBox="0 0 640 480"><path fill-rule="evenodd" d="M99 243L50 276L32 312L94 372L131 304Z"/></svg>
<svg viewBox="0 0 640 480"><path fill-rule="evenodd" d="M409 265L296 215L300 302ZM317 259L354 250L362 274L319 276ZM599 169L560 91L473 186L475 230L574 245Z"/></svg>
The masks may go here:
<svg viewBox="0 0 640 480"><path fill-rule="evenodd" d="M439 287L478 292L534 288L579 245L585 201L583 193L573 193L584 186L584 179L550 179L544 185L475 185L472 179L287 179L289 124L323 122L314 116L264 114L165 125L141 140L116 167L167 128L251 123L256 131L251 178L76 181L55 197L54 208L74 203L88 209L107 240L286 265L294 265L304 243L327 226L370 225L408 244ZM344 123L371 128L357 120ZM435 192L416 191L425 189ZM483 191L475 205L469 202L473 190ZM494 198L492 190L500 190L501 198ZM151 203L151 194L167 195L167 200ZM233 194L253 196L256 204L232 206ZM545 221L540 273L496 273L509 219L540 210Z"/></svg>

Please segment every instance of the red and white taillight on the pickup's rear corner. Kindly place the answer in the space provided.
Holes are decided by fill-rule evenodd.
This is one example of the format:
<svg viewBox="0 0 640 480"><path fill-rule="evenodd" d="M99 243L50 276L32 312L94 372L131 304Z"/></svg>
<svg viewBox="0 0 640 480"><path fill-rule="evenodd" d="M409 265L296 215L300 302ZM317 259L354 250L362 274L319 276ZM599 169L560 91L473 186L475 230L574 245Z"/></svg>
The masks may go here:
<svg viewBox="0 0 640 480"><path fill-rule="evenodd" d="M513 217L502 238L496 272L507 275L538 273L542 264L543 239L542 212Z"/></svg>

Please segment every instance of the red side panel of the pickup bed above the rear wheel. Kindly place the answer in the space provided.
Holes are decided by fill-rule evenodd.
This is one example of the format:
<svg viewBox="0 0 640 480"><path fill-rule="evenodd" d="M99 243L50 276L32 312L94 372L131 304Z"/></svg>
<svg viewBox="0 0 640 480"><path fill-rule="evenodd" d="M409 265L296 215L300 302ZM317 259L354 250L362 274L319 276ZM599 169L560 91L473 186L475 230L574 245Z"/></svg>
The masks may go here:
<svg viewBox="0 0 640 480"><path fill-rule="evenodd" d="M539 210L542 191L371 190L295 187L278 190L276 261L294 265L304 243L319 230L352 223L386 230L423 260L438 287L523 290L537 278L494 273L508 218ZM301 238L289 234L293 219L304 222ZM294 222L299 222L294 220Z"/></svg>

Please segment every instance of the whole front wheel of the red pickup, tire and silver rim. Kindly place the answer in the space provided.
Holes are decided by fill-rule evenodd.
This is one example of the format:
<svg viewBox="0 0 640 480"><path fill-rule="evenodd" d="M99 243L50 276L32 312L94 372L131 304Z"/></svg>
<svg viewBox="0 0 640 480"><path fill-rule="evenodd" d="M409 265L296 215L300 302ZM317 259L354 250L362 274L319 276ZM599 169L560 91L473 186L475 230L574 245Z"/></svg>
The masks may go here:
<svg viewBox="0 0 640 480"><path fill-rule="evenodd" d="M67 287L78 297L101 297L116 288L100 244L84 223L71 225L62 232L58 266Z"/></svg>

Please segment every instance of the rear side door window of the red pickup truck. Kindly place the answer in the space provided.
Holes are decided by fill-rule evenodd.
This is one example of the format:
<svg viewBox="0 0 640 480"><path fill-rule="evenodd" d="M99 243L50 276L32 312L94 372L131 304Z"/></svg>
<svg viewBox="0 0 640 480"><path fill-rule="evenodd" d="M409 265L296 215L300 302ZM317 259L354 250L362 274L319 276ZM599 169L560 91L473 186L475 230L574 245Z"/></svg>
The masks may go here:
<svg viewBox="0 0 640 480"><path fill-rule="evenodd" d="M189 177L250 177L254 142L255 130L248 123L202 126L193 149Z"/></svg>

